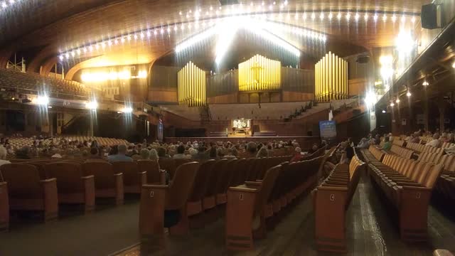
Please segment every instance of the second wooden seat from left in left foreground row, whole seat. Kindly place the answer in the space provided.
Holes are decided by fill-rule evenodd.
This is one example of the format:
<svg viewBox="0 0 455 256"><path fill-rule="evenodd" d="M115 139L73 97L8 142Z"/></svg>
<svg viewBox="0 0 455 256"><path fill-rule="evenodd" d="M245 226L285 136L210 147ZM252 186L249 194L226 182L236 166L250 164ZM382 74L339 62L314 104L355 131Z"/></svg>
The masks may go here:
<svg viewBox="0 0 455 256"><path fill-rule="evenodd" d="M57 179L58 203L82 203L86 212L95 208L95 177L84 176L80 164L46 164L45 172Z"/></svg>

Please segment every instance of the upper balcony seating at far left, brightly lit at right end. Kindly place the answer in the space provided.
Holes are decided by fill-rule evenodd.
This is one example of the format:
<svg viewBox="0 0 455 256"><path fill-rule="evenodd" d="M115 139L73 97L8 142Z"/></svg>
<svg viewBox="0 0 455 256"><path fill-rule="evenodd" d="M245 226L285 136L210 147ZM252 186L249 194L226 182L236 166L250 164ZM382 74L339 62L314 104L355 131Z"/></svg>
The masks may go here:
<svg viewBox="0 0 455 256"><path fill-rule="evenodd" d="M0 87L2 86L85 97L90 93L85 85L72 80L46 78L35 73L22 73L0 68Z"/></svg>

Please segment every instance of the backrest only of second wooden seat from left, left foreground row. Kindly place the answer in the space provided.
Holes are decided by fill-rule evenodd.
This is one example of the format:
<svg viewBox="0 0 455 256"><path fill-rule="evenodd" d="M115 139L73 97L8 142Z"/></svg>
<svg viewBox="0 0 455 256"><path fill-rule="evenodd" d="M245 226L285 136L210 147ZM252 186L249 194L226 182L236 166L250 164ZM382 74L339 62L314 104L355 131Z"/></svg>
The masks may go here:
<svg viewBox="0 0 455 256"><path fill-rule="evenodd" d="M83 173L80 164L57 162L46 164L44 168L49 178L57 179L58 193L82 191Z"/></svg>

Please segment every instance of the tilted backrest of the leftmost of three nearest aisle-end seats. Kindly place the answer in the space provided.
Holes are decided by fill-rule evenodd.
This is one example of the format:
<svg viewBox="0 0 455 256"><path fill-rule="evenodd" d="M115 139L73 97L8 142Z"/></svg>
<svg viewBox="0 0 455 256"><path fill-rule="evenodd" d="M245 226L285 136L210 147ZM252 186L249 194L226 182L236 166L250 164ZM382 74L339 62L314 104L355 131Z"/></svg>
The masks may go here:
<svg viewBox="0 0 455 256"><path fill-rule="evenodd" d="M199 165L198 162L194 161L178 166L166 194L166 210L178 210L185 206L191 188L193 188Z"/></svg>

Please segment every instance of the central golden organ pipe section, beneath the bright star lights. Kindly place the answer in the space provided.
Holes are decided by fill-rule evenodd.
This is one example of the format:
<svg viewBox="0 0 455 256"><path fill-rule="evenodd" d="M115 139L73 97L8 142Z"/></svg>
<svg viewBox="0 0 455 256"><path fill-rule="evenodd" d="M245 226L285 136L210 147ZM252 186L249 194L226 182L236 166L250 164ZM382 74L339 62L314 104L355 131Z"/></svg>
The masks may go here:
<svg viewBox="0 0 455 256"><path fill-rule="evenodd" d="M255 55L239 64L239 91L280 90L282 63Z"/></svg>

